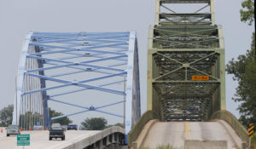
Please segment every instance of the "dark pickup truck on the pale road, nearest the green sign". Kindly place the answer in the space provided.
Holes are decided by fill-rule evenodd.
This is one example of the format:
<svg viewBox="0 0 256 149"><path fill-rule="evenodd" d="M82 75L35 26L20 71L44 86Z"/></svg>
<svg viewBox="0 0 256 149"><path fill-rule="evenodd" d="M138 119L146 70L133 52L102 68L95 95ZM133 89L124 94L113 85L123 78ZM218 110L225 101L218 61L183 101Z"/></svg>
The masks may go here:
<svg viewBox="0 0 256 149"><path fill-rule="evenodd" d="M61 140L65 140L65 132L61 125L58 125L57 123L52 124L49 129L49 140L52 140L52 138L61 138Z"/></svg>

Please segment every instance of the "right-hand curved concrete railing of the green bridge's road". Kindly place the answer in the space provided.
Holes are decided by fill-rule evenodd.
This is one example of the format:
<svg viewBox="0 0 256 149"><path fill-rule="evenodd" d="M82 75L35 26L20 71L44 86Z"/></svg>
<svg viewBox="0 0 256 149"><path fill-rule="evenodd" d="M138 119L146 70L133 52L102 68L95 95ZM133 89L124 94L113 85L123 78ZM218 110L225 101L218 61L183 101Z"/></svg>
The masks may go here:
<svg viewBox="0 0 256 149"><path fill-rule="evenodd" d="M227 123L230 123L230 126L236 131L236 134L240 136L241 140L243 140L247 146L249 146L249 137L247 129L243 127L243 125L236 119L236 117L225 110L221 110L218 112L214 112L212 114L211 119L222 119Z"/></svg>

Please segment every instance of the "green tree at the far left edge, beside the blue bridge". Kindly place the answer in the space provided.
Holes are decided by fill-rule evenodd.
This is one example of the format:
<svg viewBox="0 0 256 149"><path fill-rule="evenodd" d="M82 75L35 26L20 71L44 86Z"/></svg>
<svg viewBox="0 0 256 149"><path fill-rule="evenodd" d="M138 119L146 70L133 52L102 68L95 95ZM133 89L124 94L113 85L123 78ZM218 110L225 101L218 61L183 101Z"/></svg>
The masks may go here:
<svg viewBox="0 0 256 149"><path fill-rule="evenodd" d="M0 111L0 126L7 127L13 120L14 105L4 107Z"/></svg>

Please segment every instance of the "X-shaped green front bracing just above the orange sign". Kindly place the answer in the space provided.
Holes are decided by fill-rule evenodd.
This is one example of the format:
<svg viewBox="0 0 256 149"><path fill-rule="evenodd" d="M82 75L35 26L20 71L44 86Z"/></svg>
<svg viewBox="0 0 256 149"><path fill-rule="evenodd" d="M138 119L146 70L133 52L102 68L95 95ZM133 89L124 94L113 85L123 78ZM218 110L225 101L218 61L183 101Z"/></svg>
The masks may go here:
<svg viewBox="0 0 256 149"><path fill-rule="evenodd" d="M210 81L217 81L219 77L219 54L215 52L157 52L153 59L158 69L153 75L155 81L187 81L195 75L208 75Z"/></svg>

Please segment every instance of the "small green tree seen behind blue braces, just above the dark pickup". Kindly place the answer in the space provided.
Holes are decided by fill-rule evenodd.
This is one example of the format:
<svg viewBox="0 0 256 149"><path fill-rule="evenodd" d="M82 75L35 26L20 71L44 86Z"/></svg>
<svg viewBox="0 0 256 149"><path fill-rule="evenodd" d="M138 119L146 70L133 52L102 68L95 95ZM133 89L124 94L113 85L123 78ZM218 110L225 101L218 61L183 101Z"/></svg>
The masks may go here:
<svg viewBox="0 0 256 149"><path fill-rule="evenodd" d="M58 117L61 115L63 115L62 112L56 112L55 110L52 110L51 108L49 108L49 117ZM67 125L68 123L73 123L73 121L68 117L62 117L62 118L51 121L51 123L60 123L61 125Z"/></svg>

